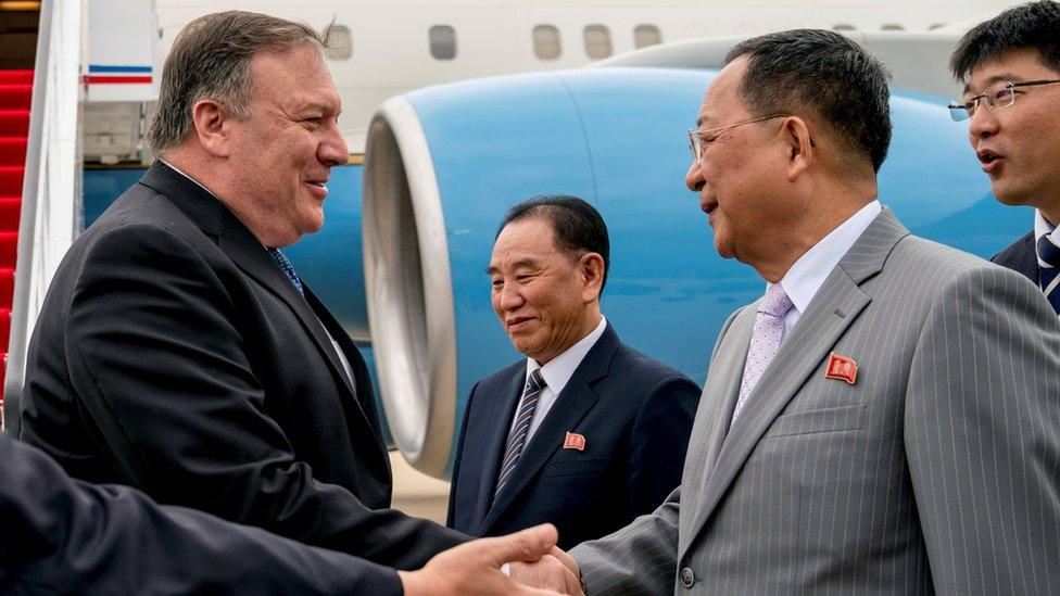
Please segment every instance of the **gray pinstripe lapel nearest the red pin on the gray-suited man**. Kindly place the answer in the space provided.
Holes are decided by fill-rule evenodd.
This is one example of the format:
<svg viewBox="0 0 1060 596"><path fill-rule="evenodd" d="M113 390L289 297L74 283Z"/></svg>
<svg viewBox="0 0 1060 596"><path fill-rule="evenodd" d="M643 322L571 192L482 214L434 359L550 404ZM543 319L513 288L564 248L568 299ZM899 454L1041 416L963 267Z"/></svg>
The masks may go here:
<svg viewBox="0 0 1060 596"><path fill-rule="evenodd" d="M714 467L704 470L707 475L705 486L702 494L694 496L695 505L691 509L694 517L689 531L682 533L679 560L773 420L798 393L807 378L820 368L829 350L871 302L872 299L859 286L883 268L895 244L908 233L891 210L884 210L818 290L792 335L784 341L747 397L747 405L729 429ZM746 344L743 347L746 350ZM743 370L721 369L717 373L740 377ZM714 422L718 423L717 420Z"/></svg>

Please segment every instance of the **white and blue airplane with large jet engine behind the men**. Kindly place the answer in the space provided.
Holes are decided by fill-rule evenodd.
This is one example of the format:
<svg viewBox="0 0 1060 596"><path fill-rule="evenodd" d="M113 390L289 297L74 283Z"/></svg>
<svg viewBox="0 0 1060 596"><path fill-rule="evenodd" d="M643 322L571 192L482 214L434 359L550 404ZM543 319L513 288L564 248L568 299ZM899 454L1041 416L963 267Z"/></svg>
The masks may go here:
<svg viewBox="0 0 1060 596"><path fill-rule="evenodd" d="M1031 220L1024 211L995 204L967 147L966 125L949 119L942 97L952 86L945 56L960 34L945 30L945 23L998 10L997 2L896 9L813 1L739 10L677 0L664 8L588 0L577 8L471 0L337 4L295 9L245 1L226 8L357 24L346 25L353 39L349 68L330 62L346 112L364 116L359 124L355 115L345 118L352 121L345 135L354 163L332 174L324 229L287 252L374 363L393 444L416 469L438 478L451 469L454 429L471 383L519 357L495 320L482 269L504 211L528 196L570 193L600 208L614 251L605 315L630 344L692 379L705 378L721 322L761 292L752 269L714 253L706 219L683 188L690 161L684 132L719 54L734 40L769 28L826 26L846 30L892 63L897 86L908 90L895 91L895 136L881 172L881 199L914 233L988 257ZM825 4L828 11L812 10ZM153 17L161 42L152 64L161 63L157 56L180 24L214 10L215 3L159 0ZM409 26L383 35L387 24ZM475 24L484 25L481 37ZM581 38L601 24L615 31L611 52L633 49L639 25L655 26L662 43L609 60L601 52L596 65L581 67L591 62ZM451 62L431 58L429 31L442 25L457 36ZM566 50L555 59L535 53L541 36L534 29L544 25L561 29ZM943 26L931 31L934 25ZM621 40L619 30L627 31ZM686 39L704 33L725 37ZM366 64L356 71L361 58ZM398 66L405 59L426 65L409 66L407 74ZM520 74L407 90L502 72ZM378 96L370 94L369 83ZM373 98L365 104L389 99L365 107L357 103L362 93ZM137 106L134 122L141 126L144 101L126 103ZM91 158L89 144L86 139ZM118 156L139 158L139 151ZM142 174L137 166L86 167L86 225Z"/></svg>

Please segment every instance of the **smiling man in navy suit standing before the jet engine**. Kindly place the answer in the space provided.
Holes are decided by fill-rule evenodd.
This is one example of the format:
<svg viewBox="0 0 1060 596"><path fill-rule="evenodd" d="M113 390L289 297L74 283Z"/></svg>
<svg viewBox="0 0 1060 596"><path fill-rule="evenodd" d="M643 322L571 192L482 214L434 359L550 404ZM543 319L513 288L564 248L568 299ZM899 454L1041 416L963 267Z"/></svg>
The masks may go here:
<svg viewBox="0 0 1060 596"><path fill-rule="evenodd" d="M618 339L600 308L607 267L607 227L581 199L532 199L501 224L493 307L527 358L471 389L450 527L547 521L570 546L651 512L680 482L699 388Z"/></svg>

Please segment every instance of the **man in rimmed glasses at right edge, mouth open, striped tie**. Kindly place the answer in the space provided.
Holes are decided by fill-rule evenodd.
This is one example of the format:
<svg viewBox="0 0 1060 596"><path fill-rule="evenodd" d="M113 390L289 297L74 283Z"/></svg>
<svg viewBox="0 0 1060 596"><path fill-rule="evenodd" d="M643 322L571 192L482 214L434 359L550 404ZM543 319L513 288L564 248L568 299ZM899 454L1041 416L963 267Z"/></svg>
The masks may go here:
<svg viewBox="0 0 1060 596"><path fill-rule="evenodd" d="M964 97L950 106L994 198L1035 208L1034 228L994 256L1038 284L1060 313L1060 3L1009 9L961 38L950 58Z"/></svg>

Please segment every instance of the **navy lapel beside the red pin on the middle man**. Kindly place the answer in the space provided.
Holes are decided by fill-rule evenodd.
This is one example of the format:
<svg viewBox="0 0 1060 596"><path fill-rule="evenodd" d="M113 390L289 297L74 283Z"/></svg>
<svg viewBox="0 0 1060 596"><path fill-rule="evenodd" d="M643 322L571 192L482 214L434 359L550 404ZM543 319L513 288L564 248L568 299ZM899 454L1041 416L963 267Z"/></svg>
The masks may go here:
<svg viewBox="0 0 1060 596"><path fill-rule="evenodd" d="M563 448L564 436L575 429L585 414L596 403L596 393L590 386L601 377L607 375L615 351L618 350L618 334L611 329L610 324L604 329L596 344L589 351L582 359L575 373L567 381L566 386L556 397L548 414L542 420L541 426L533 433L533 438L527 444L526 451L519 457L519 462L512 473L512 480L505 484L504 490L496 495L496 500L490 512L482 521L482 533L489 531L490 525L512 505L516 496L528 487L530 480L545 465L546 461L560 448ZM510 420L509 420L510 421ZM507 426L505 426L507 428Z"/></svg>

